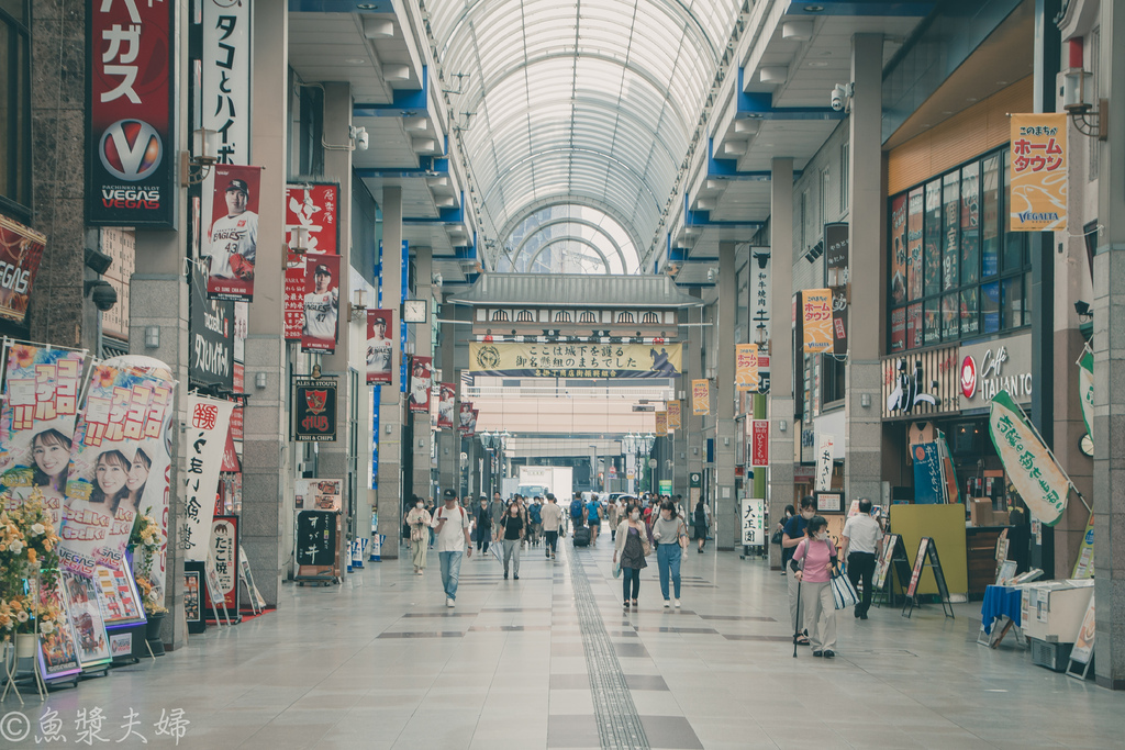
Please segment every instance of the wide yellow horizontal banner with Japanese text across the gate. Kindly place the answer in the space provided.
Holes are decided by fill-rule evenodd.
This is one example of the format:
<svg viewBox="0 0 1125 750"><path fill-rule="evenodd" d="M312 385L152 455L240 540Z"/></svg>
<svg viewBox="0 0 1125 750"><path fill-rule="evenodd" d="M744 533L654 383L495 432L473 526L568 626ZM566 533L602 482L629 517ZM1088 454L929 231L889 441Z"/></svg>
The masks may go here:
<svg viewBox="0 0 1125 750"><path fill-rule="evenodd" d="M678 378L683 344L470 342L469 371L506 378Z"/></svg>

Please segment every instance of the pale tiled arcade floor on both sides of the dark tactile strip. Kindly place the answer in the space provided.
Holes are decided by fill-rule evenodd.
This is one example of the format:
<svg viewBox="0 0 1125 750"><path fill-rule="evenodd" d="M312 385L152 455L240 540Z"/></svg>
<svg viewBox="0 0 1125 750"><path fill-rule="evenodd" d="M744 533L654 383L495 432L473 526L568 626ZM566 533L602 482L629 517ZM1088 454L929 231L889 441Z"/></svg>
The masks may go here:
<svg viewBox="0 0 1125 750"><path fill-rule="evenodd" d="M567 545L566 554L573 554ZM838 657L792 656L785 579L759 561L688 554L684 608L660 607L655 560L639 612L623 615L608 543L580 571L651 748L1120 748L1125 695L976 645L979 605L956 620L844 613ZM525 553L519 581L492 558L466 560L448 611L436 564L368 563L335 588L287 585L277 612L210 629L186 649L60 690L63 721L100 708L114 747L171 748L153 723L182 708L181 748L404 750L600 744L572 567ZM1011 640L1009 638L1009 640ZM148 739L115 740L129 710ZM20 711L8 699L3 713ZM22 708L36 747L44 707ZM6 726L9 730L6 730ZM100 744L94 742L94 744Z"/></svg>

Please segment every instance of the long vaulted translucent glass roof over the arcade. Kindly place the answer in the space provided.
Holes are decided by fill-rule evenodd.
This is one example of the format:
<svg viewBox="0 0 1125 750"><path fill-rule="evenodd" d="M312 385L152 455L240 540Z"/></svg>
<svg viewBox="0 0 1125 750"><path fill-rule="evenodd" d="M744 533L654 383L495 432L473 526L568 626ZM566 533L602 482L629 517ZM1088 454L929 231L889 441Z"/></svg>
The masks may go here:
<svg viewBox="0 0 1125 750"><path fill-rule="evenodd" d="M740 4L425 0L447 81L468 75L451 97L492 229L576 201L655 236Z"/></svg>

